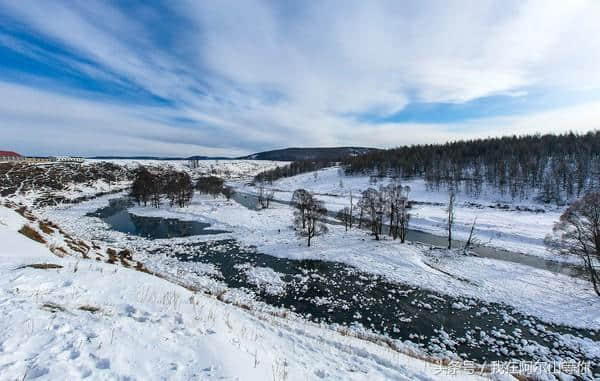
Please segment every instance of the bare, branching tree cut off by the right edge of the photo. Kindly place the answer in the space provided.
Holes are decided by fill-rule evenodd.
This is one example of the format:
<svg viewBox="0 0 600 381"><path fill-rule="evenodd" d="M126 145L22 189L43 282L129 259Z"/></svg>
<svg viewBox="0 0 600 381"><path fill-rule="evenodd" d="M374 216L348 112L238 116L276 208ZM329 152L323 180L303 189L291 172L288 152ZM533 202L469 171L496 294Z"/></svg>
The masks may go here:
<svg viewBox="0 0 600 381"><path fill-rule="evenodd" d="M581 258L596 294L600 296L600 191L573 202L553 228L546 244L562 254Z"/></svg>

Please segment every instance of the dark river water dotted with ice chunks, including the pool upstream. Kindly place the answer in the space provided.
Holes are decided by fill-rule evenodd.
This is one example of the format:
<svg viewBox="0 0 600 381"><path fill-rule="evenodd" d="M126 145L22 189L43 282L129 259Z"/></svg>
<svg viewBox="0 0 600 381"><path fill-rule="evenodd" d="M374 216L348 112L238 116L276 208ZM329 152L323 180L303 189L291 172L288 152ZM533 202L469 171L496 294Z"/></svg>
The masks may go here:
<svg viewBox="0 0 600 381"><path fill-rule="evenodd" d="M207 224L133 216L127 213L128 205L123 200L113 201L90 215L102 218L116 230L129 233L118 229L125 226L132 229L131 234L148 238L217 232L207 229ZM433 355L456 353L488 364L511 359L590 361L593 372L600 377L600 358L563 340L564 335L572 335L600 345L600 331L542 323L506 305L389 282L338 262L277 258L241 247L234 239L176 246L165 241L151 254L175 257L184 268L186 262L211 264L218 270L218 275L211 276L231 288L247 291L258 301L315 322L366 329L409 341ZM255 284L247 269L256 267L269 268L279 275L282 286L278 292Z"/></svg>

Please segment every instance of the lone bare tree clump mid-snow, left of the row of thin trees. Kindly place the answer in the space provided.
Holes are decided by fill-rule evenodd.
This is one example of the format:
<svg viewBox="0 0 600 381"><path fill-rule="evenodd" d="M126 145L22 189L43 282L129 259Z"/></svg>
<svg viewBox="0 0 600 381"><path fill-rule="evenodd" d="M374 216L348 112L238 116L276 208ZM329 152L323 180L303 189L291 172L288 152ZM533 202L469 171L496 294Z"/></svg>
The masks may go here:
<svg viewBox="0 0 600 381"><path fill-rule="evenodd" d="M307 238L308 246L313 237L327 233L327 209L323 201L317 200L305 189L296 189L292 194L294 228L298 235Z"/></svg>

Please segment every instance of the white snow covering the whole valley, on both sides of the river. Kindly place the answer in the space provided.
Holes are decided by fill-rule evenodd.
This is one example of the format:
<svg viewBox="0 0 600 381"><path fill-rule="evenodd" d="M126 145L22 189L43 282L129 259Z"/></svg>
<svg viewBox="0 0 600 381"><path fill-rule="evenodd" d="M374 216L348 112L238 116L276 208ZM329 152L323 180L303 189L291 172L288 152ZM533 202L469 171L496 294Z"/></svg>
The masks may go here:
<svg viewBox="0 0 600 381"><path fill-rule="evenodd" d="M189 170L184 161L114 162L130 168L145 164ZM256 189L249 184L250 179L278 164L282 163L200 161L200 167L191 172L225 177L239 191L253 193ZM368 177L342 176L337 168L330 168L317 175L281 179L272 188L275 197L285 201L297 188L311 190L329 209L337 210L349 203L350 192L356 201L361 190L379 184L370 184ZM446 195L425 191L419 180L403 185L411 187L411 200L436 204L416 205L411 211L411 228L444 235L443 205L437 204L443 204ZM5 250L0 250L0 311L6 316L0 323L1 375L9 375L8 379L54 379L58 374L73 379L452 378L433 364L407 356L407 351L415 350L410 343L397 343L396 347L403 349L399 353L353 338L360 330L340 335L333 326L316 325L293 313L284 313L287 318L278 317L282 309L227 288L218 280L219 271L214 266L193 262L184 265L173 256L156 253L165 245L177 252L185 251L187 244L215 239L235 239L240 245L277 258L345 263L392 282L463 298L464 304L452 306L457 310L470 308L467 298L471 298L482 304L510 306L547 324L586 330L600 327L600 303L591 285L582 279L511 262L431 250L422 244L400 244L387 238L374 241L366 231L346 232L339 225L330 225L330 232L316 237L308 248L292 228L292 208L279 203L252 210L234 200L196 194L185 208L165 204L159 209L130 208L129 212L137 216L199 221L210 224L211 229L227 231L157 240L120 233L103 220L86 216L107 206L110 199L124 195L47 207L36 213L88 245L95 242L102 248L109 245L132 249L136 261L162 278L105 263L104 259L59 258L48 249L58 244L55 240L49 240L47 246L28 240L17 233L26 221L0 207L0 241L5 243ZM31 195L11 199L27 201L28 197ZM509 210L489 207L507 201L494 195L459 200L457 238L464 238L477 216L478 235L484 241L492 238L490 245L551 258L542 240L560 210L515 210L517 206L542 208L533 203L511 203ZM19 268L48 262L62 268ZM277 295L286 288L282 274L269 267L244 265L236 269L248 283L267 294ZM177 284L219 295L219 300ZM250 308L240 309L223 300ZM597 341L570 334L558 334L557 338L561 348L585 353L587 358L600 362ZM532 354L543 350L545 347L531 347ZM542 357L552 356L547 353ZM454 378L474 376L463 371Z"/></svg>

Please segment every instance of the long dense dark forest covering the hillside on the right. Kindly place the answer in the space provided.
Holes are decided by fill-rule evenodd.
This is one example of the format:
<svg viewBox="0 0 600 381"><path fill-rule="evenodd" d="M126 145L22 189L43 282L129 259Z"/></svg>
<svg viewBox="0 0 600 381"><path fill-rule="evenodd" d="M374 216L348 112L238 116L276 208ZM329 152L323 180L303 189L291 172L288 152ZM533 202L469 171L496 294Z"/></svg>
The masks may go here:
<svg viewBox="0 0 600 381"><path fill-rule="evenodd" d="M525 135L370 151L343 161L347 174L419 176L430 190L477 196L484 186L562 203L600 186L600 131Z"/></svg>

